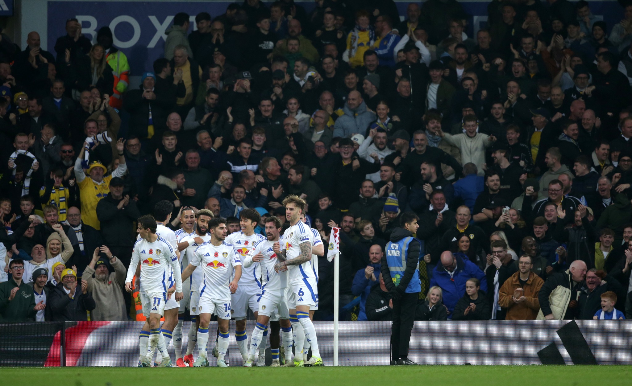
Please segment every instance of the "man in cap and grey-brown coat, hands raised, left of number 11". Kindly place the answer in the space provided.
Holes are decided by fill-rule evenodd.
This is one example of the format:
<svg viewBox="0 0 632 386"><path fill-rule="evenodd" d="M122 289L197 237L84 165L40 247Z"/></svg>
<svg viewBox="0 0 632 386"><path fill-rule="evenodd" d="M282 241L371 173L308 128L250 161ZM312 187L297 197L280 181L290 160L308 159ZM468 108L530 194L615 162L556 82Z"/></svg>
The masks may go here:
<svg viewBox="0 0 632 386"><path fill-rule="evenodd" d="M99 260L99 255L107 256L106 260ZM109 267L114 272L109 272ZM95 248L92 261L85 268L82 281L87 282L88 291L92 293L95 308L90 311L90 320L94 321L125 321L127 311L123 299L123 286L127 270L107 246ZM94 275L94 277L93 277Z"/></svg>

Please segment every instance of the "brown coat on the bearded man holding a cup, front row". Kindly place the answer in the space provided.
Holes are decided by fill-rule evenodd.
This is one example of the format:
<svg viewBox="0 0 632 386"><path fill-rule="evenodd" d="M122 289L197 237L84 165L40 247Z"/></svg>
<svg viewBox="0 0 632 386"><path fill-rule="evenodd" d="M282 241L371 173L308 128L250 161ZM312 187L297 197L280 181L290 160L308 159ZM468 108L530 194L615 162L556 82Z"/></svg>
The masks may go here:
<svg viewBox="0 0 632 386"><path fill-rule="evenodd" d="M507 310L505 320L535 320L540 310L540 299L538 293L544 285L544 280L540 279L535 272L529 272L529 279L525 286L520 284L520 272L511 275L505 280L498 291L498 305ZM523 289L523 296L526 300L521 303L514 303L512 297L516 289Z"/></svg>

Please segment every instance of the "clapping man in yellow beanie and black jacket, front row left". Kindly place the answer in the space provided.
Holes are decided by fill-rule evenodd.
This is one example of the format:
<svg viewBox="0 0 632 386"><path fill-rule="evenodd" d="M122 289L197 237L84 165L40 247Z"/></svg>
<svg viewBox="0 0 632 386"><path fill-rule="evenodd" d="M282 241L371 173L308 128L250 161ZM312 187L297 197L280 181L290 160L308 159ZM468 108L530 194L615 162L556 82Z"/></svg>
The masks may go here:
<svg viewBox="0 0 632 386"><path fill-rule="evenodd" d="M87 311L95 308L92 293L88 292L88 282L77 281L76 272L66 268L61 272L61 283L51 291L52 322L81 322L88 320Z"/></svg>

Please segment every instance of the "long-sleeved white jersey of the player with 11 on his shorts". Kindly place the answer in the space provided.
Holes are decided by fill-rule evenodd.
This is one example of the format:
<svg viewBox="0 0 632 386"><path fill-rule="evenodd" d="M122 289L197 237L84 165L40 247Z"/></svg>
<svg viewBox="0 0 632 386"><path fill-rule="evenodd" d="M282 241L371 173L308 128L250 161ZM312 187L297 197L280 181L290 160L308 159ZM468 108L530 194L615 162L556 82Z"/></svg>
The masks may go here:
<svg viewBox="0 0 632 386"><path fill-rule="evenodd" d="M167 284L171 272L173 272L176 292L182 292L178 256L166 239L159 237L154 243L140 239L134 244L126 283L133 279L138 264L140 264L140 293L166 293L169 289Z"/></svg>

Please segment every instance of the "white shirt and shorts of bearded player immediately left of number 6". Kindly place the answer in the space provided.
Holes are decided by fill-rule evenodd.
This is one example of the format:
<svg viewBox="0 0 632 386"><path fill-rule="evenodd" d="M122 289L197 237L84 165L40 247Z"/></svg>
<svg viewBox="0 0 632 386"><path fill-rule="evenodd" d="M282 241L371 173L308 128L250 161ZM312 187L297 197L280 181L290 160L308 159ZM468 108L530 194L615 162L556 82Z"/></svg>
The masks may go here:
<svg viewBox="0 0 632 386"><path fill-rule="evenodd" d="M260 272L258 280L262 283L262 293L258 297L258 314L266 315L270 317L270 320L279 320L279 317L289 319L288 304L285 296L288 275L287 272L277 273L274 270L274 265L276 265L278 260L276 253L272 250L272 244L272 241L267 239L257 241L253 248L248 251L243 265L244 267L249 267L250 265L258 264L260 267L260 269L255 270L255 273ZM262 262L256 263L252 261L253 256L257 255L257 253L264 255ZM274 318L272 318L272 315L274 315Z"/></svg>

